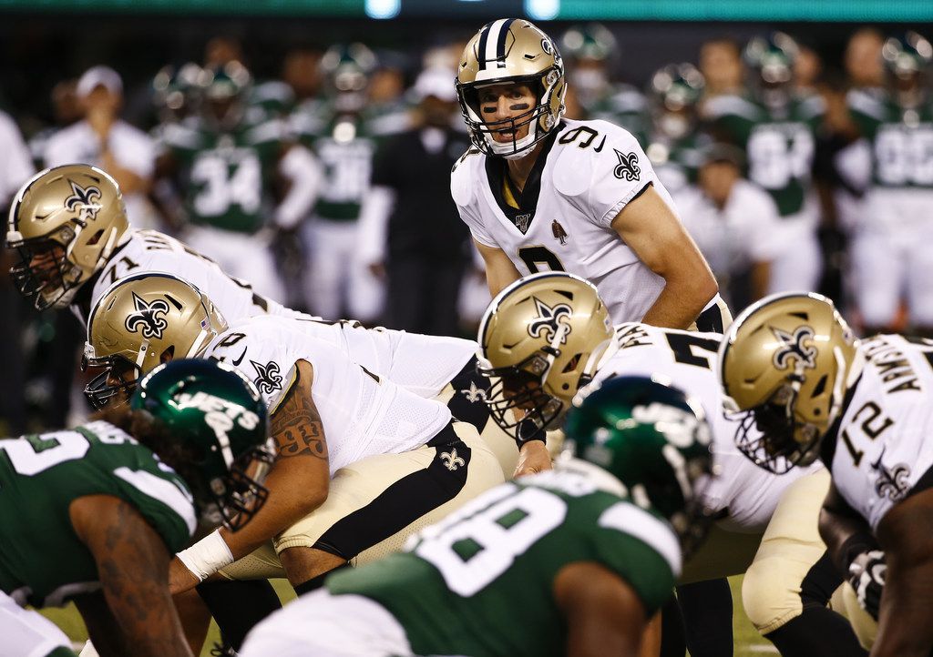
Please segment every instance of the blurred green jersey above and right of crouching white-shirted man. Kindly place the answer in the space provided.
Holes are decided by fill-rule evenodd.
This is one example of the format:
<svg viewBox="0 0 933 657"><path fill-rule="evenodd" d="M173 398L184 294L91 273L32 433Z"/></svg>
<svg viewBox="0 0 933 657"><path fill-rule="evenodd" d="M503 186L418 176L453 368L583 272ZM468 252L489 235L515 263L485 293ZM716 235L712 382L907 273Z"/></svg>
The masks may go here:
<svg viewBox="0 0 933 657"><path fill-rule="evenodd" d="M771 194L780 215L801 212L812 186L823 99L795 97L777 112L751 96L726 95L710 99L706 111L715 130L745 151L748 179Z"/></svg>

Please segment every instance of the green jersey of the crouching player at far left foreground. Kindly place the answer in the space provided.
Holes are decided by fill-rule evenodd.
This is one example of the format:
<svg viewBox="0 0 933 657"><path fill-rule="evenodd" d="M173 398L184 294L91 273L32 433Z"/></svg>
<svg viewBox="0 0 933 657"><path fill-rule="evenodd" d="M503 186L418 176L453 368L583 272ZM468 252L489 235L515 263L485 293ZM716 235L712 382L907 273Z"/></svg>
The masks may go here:
<svg viewBox="0 0 933 657"><path fill-rule="evenodd" d="M99 588L91 551L68 509L86 495L132 504L170 553L195 527L188 486L129 434L103 421L0 439L0 591L35 607L57 607Z"/></svg>

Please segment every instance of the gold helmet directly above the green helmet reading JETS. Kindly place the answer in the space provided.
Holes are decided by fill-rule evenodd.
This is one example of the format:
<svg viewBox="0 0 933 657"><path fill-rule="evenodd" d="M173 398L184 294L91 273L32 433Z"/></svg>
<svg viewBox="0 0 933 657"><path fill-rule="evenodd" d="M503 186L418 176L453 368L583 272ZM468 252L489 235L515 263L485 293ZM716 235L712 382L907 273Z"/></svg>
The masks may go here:
<svg viewBox="0 0 933 657"><path fill-rule="evenodd" d="M91 309L82 368L103 367L84 394L103 408L160 363L197 358L227 322L198 288L172 274L117 281Z"/></svg>

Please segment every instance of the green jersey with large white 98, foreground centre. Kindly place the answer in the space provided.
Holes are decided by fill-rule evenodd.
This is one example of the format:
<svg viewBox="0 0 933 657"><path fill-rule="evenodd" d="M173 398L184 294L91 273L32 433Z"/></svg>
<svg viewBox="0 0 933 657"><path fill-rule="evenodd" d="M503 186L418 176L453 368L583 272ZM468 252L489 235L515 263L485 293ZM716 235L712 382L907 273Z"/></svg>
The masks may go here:
<svg viewBox="0 0 933 657"><path fill-rule="evenodd" d="M659 516L578 473L545 472L495 487L425 529L407 552L326 585L382 605L415 654L547 657L566 649L553 599L562 568L605 566L652 614L672 594L680 558Z"/></svg>

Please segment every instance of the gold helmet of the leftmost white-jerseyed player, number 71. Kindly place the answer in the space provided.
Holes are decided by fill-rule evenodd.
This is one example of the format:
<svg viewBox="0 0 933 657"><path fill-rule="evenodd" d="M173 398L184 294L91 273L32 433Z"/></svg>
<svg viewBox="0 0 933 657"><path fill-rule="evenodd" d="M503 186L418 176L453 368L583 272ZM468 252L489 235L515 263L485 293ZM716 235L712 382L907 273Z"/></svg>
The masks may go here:
<svg viewBox="0 0 933 657"><path fill-rule="evenodd" d="M35 308L64 308L129 240L117 182L90 164L47 169L22 186L9 209L7 246L20 253L10 275Z"/></svg>

